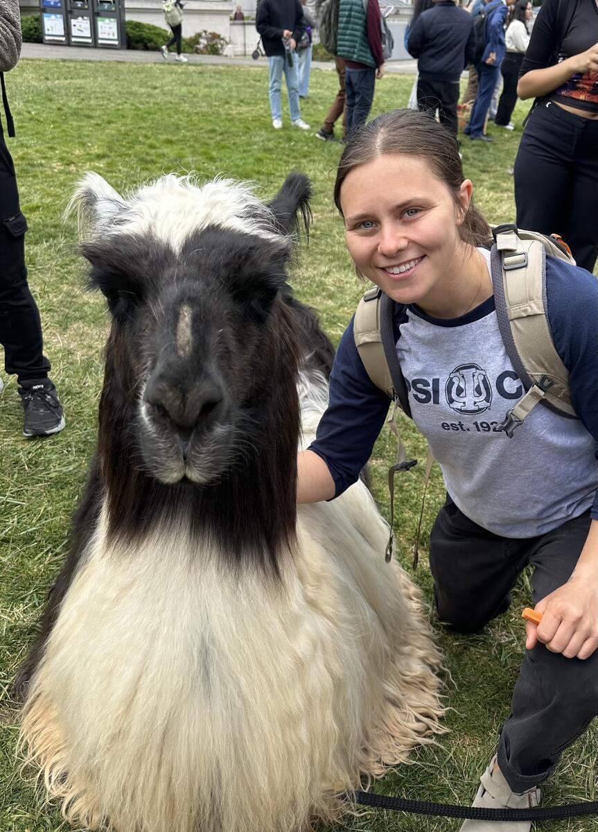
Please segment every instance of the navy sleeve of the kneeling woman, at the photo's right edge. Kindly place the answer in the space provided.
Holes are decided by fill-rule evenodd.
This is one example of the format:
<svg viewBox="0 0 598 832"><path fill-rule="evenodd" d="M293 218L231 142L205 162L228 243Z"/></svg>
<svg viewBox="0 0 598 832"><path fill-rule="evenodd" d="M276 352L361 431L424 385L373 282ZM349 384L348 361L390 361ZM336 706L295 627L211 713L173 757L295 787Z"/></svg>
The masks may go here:
<svg viewBox="0 0 598 832"><path fill-rule="evenodd" d="M546 301L556 351L569 370L571 403L598 442L598 280L547 257ZM598 520L598 493L591 516Z"/></svg>

